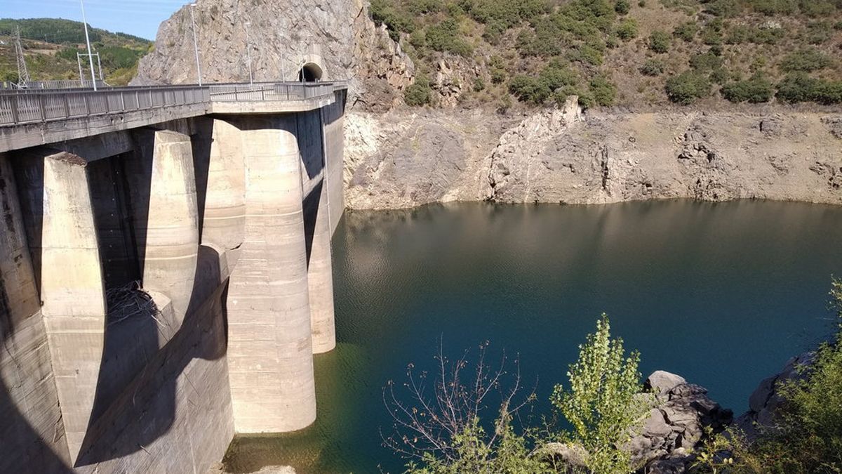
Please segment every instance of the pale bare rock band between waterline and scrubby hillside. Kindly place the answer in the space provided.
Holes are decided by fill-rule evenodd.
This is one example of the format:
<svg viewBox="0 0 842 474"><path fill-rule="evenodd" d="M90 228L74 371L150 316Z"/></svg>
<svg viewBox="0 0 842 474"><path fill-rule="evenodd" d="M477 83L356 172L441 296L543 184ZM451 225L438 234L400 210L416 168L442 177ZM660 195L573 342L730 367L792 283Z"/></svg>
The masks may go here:
<svg viewBox="0 0 842 474"><path fill-rule="evenodd" d="M699 111L512 119L429 110L346 121L346 202L608 203L689 197L842 204L837 118ZM496 135L496 136L495 136Z"/></svg>

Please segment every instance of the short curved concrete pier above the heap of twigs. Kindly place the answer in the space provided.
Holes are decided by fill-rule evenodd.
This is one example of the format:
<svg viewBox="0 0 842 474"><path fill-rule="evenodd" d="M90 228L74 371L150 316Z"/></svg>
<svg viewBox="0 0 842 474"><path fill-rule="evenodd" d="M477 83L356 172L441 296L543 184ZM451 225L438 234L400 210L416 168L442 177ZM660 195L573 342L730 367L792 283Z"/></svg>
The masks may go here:
<svg viewBox="0 0 842 474"><path fill-rule="evenodd" d="M147 202L132 200L143 288L172 300L178 327L190 302L199 251L193 151L190 138L179 132L142 130L136 138L139 153L130 179L137 186L132 188L148 190Z"/></svg>

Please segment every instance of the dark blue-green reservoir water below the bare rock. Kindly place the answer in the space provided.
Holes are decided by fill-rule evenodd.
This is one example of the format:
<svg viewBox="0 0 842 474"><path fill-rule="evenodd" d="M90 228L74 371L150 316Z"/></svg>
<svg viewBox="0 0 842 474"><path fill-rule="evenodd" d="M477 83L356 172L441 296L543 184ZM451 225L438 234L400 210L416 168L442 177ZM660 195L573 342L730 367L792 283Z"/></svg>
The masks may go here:
<svg viewBox="0 0 842 474"><path fill-rule="evenodd" d="M434 368L488 340L520 354L538 407L566 381L601 312L665 369L734 412L787 358L829 333L842 208L782 202L610 206L459 204L346 213L333 238L338 347L317 356L318 420L239 437L227 466L401 471L381 447L381 399L407 364Z"/></svg>

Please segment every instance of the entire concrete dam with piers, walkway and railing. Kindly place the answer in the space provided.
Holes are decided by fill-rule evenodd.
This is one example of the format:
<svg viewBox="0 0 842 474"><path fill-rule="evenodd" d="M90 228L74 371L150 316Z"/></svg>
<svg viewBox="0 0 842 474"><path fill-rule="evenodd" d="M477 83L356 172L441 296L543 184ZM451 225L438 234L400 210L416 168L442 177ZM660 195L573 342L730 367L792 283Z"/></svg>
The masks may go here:
<svg viewBox="0 0 842 474"><path fill-rule="evenodd" d="M203 472L315 420L346 93L0 94L0 471Z"/></svg>

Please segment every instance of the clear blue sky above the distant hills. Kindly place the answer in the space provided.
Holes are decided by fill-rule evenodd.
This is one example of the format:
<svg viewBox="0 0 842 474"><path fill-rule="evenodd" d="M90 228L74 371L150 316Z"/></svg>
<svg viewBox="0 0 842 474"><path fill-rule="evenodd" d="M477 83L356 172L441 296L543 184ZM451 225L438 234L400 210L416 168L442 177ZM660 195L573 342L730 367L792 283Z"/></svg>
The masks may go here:
<svg viewBox="0 0 842 474"><path fill-rule="evenodd" d="M84 0L88 24L154 40L157 27L187 0ZM79 0L0 0L0 18L82 21Z"/></svg>

